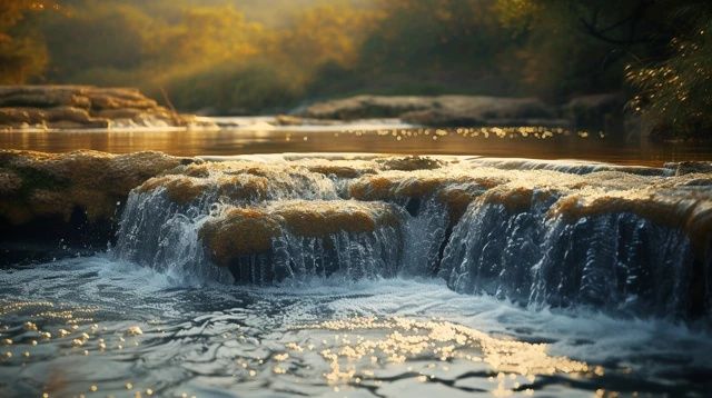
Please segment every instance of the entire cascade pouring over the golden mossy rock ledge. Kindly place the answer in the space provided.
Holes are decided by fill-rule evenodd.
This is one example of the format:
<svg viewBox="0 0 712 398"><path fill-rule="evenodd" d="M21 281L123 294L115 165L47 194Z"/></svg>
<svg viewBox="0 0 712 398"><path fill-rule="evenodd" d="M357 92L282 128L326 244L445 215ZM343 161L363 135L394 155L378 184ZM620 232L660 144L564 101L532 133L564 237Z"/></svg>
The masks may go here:
<svg viewBox="0 0 712 398"><path fill-rule="evenodd" d="M231 160L135 189L116 257L187 280L439 276L523 305L709 316L705 175L449 158Z"/></svg>

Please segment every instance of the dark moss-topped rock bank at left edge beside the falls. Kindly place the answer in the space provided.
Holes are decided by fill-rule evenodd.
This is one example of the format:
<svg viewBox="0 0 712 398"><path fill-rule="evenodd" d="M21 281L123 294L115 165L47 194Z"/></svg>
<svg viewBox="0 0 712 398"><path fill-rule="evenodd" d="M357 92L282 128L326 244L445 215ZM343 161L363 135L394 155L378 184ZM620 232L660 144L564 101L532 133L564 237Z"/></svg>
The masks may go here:
<svg viewBox="0 0 712 398"><path fill-rule="evenodd" d="M106 246L131 189L194 161L159 152L0 151L0 247Z"/></svg>

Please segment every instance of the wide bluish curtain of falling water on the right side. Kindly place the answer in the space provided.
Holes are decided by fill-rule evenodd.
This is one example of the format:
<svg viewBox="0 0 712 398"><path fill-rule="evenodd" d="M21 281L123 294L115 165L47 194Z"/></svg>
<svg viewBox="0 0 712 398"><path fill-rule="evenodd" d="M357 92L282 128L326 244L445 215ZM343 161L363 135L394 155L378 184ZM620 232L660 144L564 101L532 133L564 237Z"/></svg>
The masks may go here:
<svg viewBox="0 0 712 398"><path fill-rule="evenodd" d="M456 291L524 305L690 314L690 287L700 276L683 233L627 212L552 219L546 205L521 212L473 205L453 231L439 275Z"/></svg>

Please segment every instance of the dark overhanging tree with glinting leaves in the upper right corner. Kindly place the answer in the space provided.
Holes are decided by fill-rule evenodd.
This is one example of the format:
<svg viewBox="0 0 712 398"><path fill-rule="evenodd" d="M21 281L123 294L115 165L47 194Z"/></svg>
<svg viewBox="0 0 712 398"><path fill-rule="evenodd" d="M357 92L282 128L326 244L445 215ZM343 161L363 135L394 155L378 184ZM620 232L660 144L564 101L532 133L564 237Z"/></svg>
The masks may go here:
<svg viewBox="0 0 712 398"><path fill-rule="evenodd" d="M666 137L712 131L712 2L708 0L497 0L503 23L524 34L527 66L600 63L609 83L574 68L589 90L633 90L630 108ZM556 29L556 27L558 27ZM542 46L542 43L544 43ZM558 54L542 49L557 48ZM583 51L582 51L583 50ZM554 79L565 74L552 73ZM540 80L536 68L527 68ZM613 79L613 80L611 80ZM582 89L584 89L582 87ZM563 92L571 92L573 87Z"/></svg>

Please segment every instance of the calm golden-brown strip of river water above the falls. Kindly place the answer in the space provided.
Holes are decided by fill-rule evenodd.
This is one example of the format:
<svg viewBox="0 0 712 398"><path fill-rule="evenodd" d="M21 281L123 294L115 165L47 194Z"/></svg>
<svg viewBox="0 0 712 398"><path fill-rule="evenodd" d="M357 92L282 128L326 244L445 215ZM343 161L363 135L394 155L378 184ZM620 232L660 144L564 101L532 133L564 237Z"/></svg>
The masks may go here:
<svg viewBox="0 0 712 398"><path fill-rule="evenodd" d="M589 131L548 128L421 129L392 120L345 126L275 127L266 120L269 119L228 118L227 122L236 126L219 131L2 132L0 149L44 152L93 149L113 153L157 150L176 156L281 152L476 155L646 166L712 160L712 145L626 141Z"/></svg>

